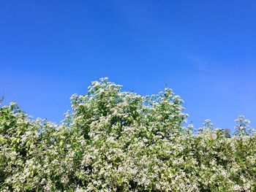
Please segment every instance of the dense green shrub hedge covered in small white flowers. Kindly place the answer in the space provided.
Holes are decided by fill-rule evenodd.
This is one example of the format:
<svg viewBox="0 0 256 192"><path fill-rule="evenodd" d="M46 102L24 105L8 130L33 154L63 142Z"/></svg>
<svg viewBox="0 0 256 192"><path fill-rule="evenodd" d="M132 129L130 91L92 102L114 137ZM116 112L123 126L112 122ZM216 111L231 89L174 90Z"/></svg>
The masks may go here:
<svg viewBox="0 0 256 192"><path fill-rule="evenodd" d="M195 134L182 100L122 92L102 78L61 124L0 109L1 191L255 191L256 135L211 120Z"/></svg>

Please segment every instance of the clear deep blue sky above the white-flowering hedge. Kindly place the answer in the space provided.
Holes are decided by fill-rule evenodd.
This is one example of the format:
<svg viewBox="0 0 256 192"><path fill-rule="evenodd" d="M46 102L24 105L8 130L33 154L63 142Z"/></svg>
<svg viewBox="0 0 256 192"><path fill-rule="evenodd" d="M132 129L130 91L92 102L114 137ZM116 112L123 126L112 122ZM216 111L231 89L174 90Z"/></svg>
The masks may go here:
<svg viewBox="0 0 256 192"><path fill-rule="evenodd" d="M59 122L72 93L109 77L168 87L196 127L256 126L256 1L0 1L0 95Z"/></svg>

